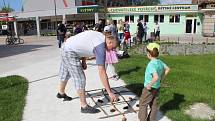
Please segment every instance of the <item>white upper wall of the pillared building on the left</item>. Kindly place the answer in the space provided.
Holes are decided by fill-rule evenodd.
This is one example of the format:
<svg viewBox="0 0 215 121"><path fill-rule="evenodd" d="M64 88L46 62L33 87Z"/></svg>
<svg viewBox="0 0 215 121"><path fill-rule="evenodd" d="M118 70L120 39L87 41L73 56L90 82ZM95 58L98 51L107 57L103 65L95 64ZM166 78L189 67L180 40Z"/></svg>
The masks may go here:
<svg viewBox="0 0 215 121"><path fill-rule="evenodd" d="M74 0L65 0L68 3L68 7L65 7L63 0L56 0L56 14L77 14L77 7ZM54 0L26 0L24 3L23 12L10 13L11 16L16 18L29 18L29 17L44 17L54 16L55 6Z"/></svg>

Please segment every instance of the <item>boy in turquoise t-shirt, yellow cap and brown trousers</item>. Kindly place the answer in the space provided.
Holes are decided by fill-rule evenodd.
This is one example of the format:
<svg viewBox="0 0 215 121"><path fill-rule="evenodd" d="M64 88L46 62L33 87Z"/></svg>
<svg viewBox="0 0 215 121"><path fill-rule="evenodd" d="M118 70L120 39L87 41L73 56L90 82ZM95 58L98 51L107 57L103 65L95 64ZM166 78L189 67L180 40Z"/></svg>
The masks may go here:
<svg viewBox="0 0 215 121"><path fill-rule="evenodd" d="M147 57L150 59L150 62L146 67L144 89L140 97L138 114L140 121L156 121L160 82L170 71L169 67L158 59L159 47L157 43L149 43L146 46ZM147 113L148 106L151 108L149 114Z"/></svg>

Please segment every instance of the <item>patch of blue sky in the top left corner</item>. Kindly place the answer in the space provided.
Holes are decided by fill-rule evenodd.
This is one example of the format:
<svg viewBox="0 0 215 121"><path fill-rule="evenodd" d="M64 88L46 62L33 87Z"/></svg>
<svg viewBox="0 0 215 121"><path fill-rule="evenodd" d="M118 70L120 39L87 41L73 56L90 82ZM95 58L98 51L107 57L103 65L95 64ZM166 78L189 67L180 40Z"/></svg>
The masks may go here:
<svg viewBox="0 0 215 121"><path fill-rule="evenodd" d="M0 0L0 8L4 6L4 2L6 5L10 5L11 8L13 8L15 11L21 11L22 8L22 0Z"/></svg>

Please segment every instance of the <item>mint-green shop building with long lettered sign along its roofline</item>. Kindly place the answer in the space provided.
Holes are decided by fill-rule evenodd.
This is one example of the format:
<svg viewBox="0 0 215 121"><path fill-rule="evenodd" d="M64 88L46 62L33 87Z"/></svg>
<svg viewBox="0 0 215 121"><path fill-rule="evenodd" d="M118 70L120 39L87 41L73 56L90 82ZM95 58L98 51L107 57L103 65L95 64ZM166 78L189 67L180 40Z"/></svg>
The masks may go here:
<svg viewBox="0 0 215 121"><path fill-rule="evenodd" d="M154 31L155 21L160 24L161 35L202 34L203 15L198 5L161 5L108 8L108 18L129 21L131 32L137 28L137 19L146 22Z"/></svg>

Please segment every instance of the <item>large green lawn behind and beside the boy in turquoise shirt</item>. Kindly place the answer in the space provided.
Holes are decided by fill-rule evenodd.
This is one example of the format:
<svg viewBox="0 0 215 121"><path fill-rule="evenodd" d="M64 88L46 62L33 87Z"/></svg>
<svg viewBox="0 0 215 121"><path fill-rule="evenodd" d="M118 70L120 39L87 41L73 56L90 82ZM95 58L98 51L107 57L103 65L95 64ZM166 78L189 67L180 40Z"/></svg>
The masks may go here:
<svg viewBox="0 0 215 121"><path fill-rule="evenodd" d="M184 111L195 102L207 103L215 109L215 55L161 56L171 71L161 82L160 110L173 121L204 121L192 119ZM116 65L127 87L141 95L145 68L149 60L145 55L132 55Z"/></svg>

